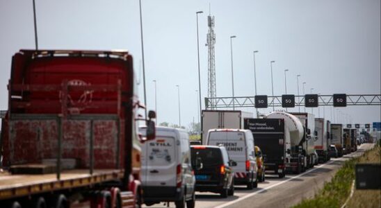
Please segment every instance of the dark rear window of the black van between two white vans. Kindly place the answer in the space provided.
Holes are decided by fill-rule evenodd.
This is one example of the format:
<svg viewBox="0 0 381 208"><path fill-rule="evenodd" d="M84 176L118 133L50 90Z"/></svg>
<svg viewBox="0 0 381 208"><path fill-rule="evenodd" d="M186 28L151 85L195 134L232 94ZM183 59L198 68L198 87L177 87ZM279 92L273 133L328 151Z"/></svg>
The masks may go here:
<svg viewBox="0 0 381 208"><path fill-rule="evenodd" d="M196 159L200 159L203 166L223 164L221 151L218 148L190 148L192 166L195 167Z"/></svg>

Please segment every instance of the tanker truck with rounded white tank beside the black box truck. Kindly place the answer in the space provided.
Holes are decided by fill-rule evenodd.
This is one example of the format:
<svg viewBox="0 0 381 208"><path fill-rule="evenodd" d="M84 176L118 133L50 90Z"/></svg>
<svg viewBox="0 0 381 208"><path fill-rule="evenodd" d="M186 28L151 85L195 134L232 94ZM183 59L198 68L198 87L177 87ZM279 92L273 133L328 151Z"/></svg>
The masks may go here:
<svg viewBox="0 0 381 208"><path fill-rule="evenodd" d="M286 172L300 173L307 168L307 149L305 146L305 130L302 122L286 112L272 112L265 119L284 120L284 144ZM254 137L254 141L257 141Z"/></svg>

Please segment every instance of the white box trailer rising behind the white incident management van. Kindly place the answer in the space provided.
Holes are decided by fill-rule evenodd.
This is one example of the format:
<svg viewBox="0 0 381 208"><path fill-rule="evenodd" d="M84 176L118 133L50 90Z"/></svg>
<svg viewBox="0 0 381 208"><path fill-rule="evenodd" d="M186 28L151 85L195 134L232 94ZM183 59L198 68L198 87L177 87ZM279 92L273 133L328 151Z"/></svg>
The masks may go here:
<svg viewBox="0 0 381 208"><path fill-rule="evenodd" d="M243 129L243 119L254 118L252 112L241 110L202 110L201 139L205 144L208 131L214 128Z"/></svg>

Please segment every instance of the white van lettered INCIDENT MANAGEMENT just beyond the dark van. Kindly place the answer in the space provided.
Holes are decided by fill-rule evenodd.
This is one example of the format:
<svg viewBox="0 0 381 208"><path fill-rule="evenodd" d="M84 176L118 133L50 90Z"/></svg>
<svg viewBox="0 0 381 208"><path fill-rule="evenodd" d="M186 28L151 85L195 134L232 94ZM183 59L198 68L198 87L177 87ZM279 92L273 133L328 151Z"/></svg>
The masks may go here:
<svg viewBox="0 0 381 208"><path fill-rule="evenodd" d="M211 129L206 144L225 146L229 158L237 163L234 167L234 184L246 184L248 189L257 188L257 161L250 130Z"/></svg>

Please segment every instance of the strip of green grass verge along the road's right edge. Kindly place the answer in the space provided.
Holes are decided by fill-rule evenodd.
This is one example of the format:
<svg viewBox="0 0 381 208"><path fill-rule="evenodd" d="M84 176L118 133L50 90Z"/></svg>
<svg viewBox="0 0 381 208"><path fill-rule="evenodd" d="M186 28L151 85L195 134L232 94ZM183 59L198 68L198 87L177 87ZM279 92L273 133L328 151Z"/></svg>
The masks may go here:
<svg viewBox="0 0 381 208"><path fill-rule="evenodd" d="M373 155L373 152L378 153L378 148L366 151L362 157L344 162L343 166L332 177L332 180L325 183L323 189L319 190L314 198L302 200L294 208L341 207L350 195L352 181L355 180L355 164L360 160L364 160L362 158L369 157L370 154Z"/></svg>

